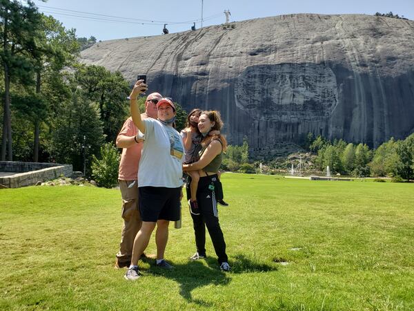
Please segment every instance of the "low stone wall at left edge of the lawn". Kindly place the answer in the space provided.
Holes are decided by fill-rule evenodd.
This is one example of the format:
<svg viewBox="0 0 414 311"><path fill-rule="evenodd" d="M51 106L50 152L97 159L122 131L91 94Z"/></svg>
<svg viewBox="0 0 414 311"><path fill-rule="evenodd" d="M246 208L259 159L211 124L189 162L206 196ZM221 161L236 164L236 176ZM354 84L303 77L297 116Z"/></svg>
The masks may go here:
<svg viewBox="0 0 414 311"><path fill-rule="evenodd" d="M8 188L35 185L39 181L45 182L62 175L70 177L73 173L71 164L11 161L0 161L0 171L15 173L12 176L0 177L0 185Z"/></svg>

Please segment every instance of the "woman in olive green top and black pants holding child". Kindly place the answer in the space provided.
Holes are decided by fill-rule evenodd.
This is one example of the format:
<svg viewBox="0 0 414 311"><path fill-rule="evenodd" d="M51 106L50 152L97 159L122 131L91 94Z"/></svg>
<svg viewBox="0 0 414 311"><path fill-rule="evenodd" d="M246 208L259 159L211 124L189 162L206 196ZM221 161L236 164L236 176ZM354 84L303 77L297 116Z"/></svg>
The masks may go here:
<svg viewBox="0 0 414 311"><path fill-rule="evenodd" d="M210 131L221 131L223 122L217 111L204 111L199 117L198 128L203 136L202 149L199 152L200 159L191 164L184 164L184 171L198 171L200 180L197 189L197 202L200 214L193 215L195 245L197 252L191 257L193 260L206 258L206 227L218 257L220 269L230 271L226 254L226 243L219 225L217 200L212 185L218 181L217 173L226 151L227 142L223 135L208 135ZM190 194L189 182L187 183L187 196Z"/></svg>

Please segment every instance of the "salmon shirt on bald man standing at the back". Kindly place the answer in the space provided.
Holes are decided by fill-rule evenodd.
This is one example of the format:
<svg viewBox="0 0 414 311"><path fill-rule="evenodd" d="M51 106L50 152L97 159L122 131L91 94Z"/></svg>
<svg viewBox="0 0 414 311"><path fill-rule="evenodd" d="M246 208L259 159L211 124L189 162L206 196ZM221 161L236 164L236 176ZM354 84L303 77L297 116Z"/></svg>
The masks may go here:
<svg viewBox="0 0 414 311"><path fill-rule="evenodd" d="M146 119L146 114L141 114L142 119ZM132 122L132 117L124 122L119 135L135 136L138 133L137 126ZM133 144L129 148L123 148L121 154L121 162L119 162L119 180L137 180L138 176L138 164L141 159L141 150L143 143Z"/></svg>

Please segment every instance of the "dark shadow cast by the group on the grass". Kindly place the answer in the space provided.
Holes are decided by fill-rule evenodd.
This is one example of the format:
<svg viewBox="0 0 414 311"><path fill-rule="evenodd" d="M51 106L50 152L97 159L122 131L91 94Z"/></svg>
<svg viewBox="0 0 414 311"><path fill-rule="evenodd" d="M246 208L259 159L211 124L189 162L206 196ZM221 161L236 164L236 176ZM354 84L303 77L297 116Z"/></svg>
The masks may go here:
<svg viewBox="0 0 414 311"><path fill-rule="evenodd" d="M172 263L174 270L162 270L155 266L154 261L147 272L165 276L179 283L179 293L188 302L212 307L213 305L211 303L201 299L193 299L191 292L196 288L201 288L206 285L227 285L231 281L232 274L277 270L277 266L275 265L260 263L257 259L248 258L243 254L233 256L233 258L230 258L229 263L232 267L231 272L221 271L215 257L207 257L206 259L198 261L188 261L188 263L181 265Z"/></svg>

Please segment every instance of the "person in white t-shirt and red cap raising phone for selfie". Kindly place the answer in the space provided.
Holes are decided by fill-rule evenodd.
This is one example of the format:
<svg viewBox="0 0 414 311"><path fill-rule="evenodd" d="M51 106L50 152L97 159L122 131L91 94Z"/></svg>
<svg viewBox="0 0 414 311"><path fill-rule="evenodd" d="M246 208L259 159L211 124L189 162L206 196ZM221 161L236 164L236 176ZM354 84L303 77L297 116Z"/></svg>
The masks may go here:
<svg viewBox="0 0 414 311"><path fill-rule="evenodd" d="M142 225L135 237L130 267L124 276L131 281L139 278L138 259L146 249L155 225L157 266L173 268L164 260L164 252L168 241L168 225L170 221L179 220L182 198L184 145L181 136L172 127L176 115L175 105L170 99L162 98L157 103L158 119L143 120L139 113L137 96L146 89L147 85L143 80L138 80L130 94L132 121L145 135L138 169Z"/></svg>

